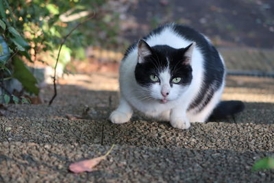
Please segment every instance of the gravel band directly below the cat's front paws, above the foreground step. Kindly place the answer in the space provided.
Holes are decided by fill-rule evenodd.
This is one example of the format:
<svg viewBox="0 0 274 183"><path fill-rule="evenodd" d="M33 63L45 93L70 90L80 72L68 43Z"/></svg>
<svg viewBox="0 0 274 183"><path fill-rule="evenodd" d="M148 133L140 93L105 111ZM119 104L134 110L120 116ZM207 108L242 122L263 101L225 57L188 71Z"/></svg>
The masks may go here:
<svg viewBox="0 0 274 183"><path fill-rule="evenodd" d="M273 124L210 122L179 130L148 121L115 125L102 120L1 118L1 123L10 130L1 134L0 141L274 151Z"/></svg>

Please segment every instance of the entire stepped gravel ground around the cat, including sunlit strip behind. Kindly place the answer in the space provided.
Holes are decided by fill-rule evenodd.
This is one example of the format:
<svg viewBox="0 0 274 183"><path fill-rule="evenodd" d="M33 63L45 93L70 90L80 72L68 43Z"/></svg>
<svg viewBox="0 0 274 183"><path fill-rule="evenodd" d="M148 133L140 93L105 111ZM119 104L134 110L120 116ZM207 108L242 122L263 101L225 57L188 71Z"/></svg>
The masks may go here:
<svg viewBox="0 0 274 183"><path fill-rule="evenodd" d="M98 83L104 82L103 88ZM274 171L251 171L273 156L274 80L227 77L223 99L241 99L234 117L178 130L135 113L115 125L117 76L93 73L60 81L53 106L1 109L0 182L271 182ZM42 90L48 101L52 88ZM88 115L79 119L87 106ZM70 173L71 162L116 147L92 173Z"/></svg>

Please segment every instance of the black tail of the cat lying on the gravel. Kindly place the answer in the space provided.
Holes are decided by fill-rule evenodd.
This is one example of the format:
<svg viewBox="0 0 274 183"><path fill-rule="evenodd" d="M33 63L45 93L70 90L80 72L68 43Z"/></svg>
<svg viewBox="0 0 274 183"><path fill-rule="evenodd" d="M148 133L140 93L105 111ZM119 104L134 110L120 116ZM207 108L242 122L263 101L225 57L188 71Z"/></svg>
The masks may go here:
<svg viewBox="0 0 274 183"><path fill-rule="evenodd" d="M245 109L245 104L242 101L221 101L216 108L214 108L210 119L223 119L229 115L242 112Z"/></svg>

